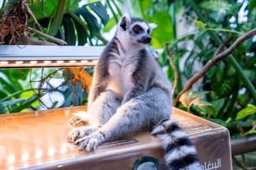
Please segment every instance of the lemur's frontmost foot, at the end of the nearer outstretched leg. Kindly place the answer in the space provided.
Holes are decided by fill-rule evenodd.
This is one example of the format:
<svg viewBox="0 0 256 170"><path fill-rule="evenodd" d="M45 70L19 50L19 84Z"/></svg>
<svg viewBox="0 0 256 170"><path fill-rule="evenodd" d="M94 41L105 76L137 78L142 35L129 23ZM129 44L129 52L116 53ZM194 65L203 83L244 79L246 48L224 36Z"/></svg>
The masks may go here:
<svg viewBox="0 0 256 170"><path fill-rule="evenodd" d="M104 141L104 134L100 132L93 132L89 136L77 139L75 141L76 145L79 145L78 150L86 150L90 152L91 150L96 150L97 146Z"/></svg>

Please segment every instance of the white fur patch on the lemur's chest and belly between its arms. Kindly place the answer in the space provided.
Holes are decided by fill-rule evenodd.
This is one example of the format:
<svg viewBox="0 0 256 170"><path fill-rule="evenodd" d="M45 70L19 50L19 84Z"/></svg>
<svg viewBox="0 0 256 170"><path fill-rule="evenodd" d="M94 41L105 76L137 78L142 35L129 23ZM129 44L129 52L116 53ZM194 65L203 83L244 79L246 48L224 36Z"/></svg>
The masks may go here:
<svg viewBox="0 0 256 170"><path fill-rule="evenodd" d="M132 73L136 69L137 62L138 53L113 54L113 59L109 61L108 66L111 78L107 89L111 89L119 96L124 97L134 87Z"/></svg>

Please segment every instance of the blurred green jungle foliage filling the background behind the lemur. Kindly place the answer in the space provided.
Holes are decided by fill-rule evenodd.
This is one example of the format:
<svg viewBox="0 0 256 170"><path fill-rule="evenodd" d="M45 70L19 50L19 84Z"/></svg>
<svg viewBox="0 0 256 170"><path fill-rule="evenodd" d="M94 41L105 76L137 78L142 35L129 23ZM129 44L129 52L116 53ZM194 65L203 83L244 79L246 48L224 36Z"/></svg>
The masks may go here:
<svg viewBox="0 0 256 170"><path fill-rule="evenodd" d="M1 12L6 1L2 3ZM62 11L61 5L64 6ZM151 46L159 53L159 64L172 82L174 74L164 44L168 41L170 50L175 48L173 62L179 71L179 81L174 97L216 52L220 44L212 32L221 41L232 36L233 40L228 44L231 45L256 25L255 0L34 0L29 6L42 25L41 31L67 41L68 45L106 45L115 32L118 19L125 12L156 22L158 27L152 32ZM40 29L32 19L29 27ZM42 38L31 32L29 35ZM254 90L255 41L256 37L248 39L233 53ZM56 69L0 70L0 113L86 104L87 94L82 92L81 85L76 83L74 90L70 74L64 69ZM92 74L92 68L86 68L86 71ZM38 89L42 90L40 96ZM225 59L180 97L179 108L226 126L232 138L250 136L256 133L253 95L256 94L248 89L232 62Z"/></svg>

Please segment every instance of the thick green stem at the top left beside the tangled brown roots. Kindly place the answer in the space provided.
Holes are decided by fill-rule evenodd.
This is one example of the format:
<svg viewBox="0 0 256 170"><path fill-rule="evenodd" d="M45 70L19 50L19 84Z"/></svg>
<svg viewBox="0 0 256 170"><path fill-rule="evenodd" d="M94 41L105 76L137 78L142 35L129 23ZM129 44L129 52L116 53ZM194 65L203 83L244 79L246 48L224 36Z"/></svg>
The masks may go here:
<svg viewBox="0 0 256 170"><path fill-rule="evenodd" d="M66 0L58 1L56 13L55 13L54 19L52 21L51 27L49 29L50 36L55 36L58 32L58 29L61 25L61 21L62 21L63 15L64 15L64 11L65 11L65 4L66 4L65 2L66 2Z"/></svg>

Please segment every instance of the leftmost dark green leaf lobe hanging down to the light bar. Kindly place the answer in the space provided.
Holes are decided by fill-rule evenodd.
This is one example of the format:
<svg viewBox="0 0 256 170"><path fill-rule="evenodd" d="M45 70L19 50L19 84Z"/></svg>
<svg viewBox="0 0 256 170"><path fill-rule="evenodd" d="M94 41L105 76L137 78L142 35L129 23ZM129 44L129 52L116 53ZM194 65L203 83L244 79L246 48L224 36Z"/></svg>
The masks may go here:
<svg viewBox="0 0 256 170"><path fill-rule="evenodd" d="M65 41L68 43L68 45L76 45L76 32L74 29L74 24L69 15L63 16L62 24L64 26Z"/></svg>

